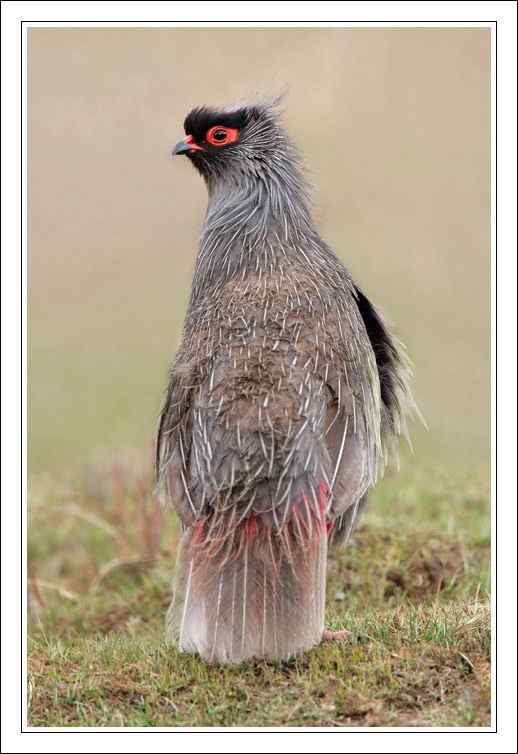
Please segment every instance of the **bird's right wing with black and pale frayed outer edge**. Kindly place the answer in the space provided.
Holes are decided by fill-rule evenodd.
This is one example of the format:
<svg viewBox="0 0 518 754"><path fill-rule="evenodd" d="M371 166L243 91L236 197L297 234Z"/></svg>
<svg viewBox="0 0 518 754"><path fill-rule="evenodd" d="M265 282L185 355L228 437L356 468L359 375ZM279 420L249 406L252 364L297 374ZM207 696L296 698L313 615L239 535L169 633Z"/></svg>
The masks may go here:
<svg viewBox="0 0 518 754"><path fill-rule="evenodd" d="M334 469L331 513L340 532L337 540L350 535L366 493L383 472L399 435L408 438L408 413L417 412L404 347L357 287L350 303L343 367L338 363L330 379L335 400L328 408L326 431Z"/></svg>

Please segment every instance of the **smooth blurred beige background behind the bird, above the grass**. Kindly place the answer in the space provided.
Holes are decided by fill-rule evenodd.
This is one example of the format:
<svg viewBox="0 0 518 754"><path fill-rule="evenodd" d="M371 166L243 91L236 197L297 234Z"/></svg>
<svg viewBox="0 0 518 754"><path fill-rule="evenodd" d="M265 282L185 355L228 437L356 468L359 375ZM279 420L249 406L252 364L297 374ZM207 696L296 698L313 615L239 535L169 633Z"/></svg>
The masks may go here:
<svg viewBox="0 0 518 754"><path fill-rule="evenodd" d="M289 86L315 217L397 324L429 432L487 469L487 29L32 29L30 470L151 442L205 188L171 146L194 105Z"/></svg>

